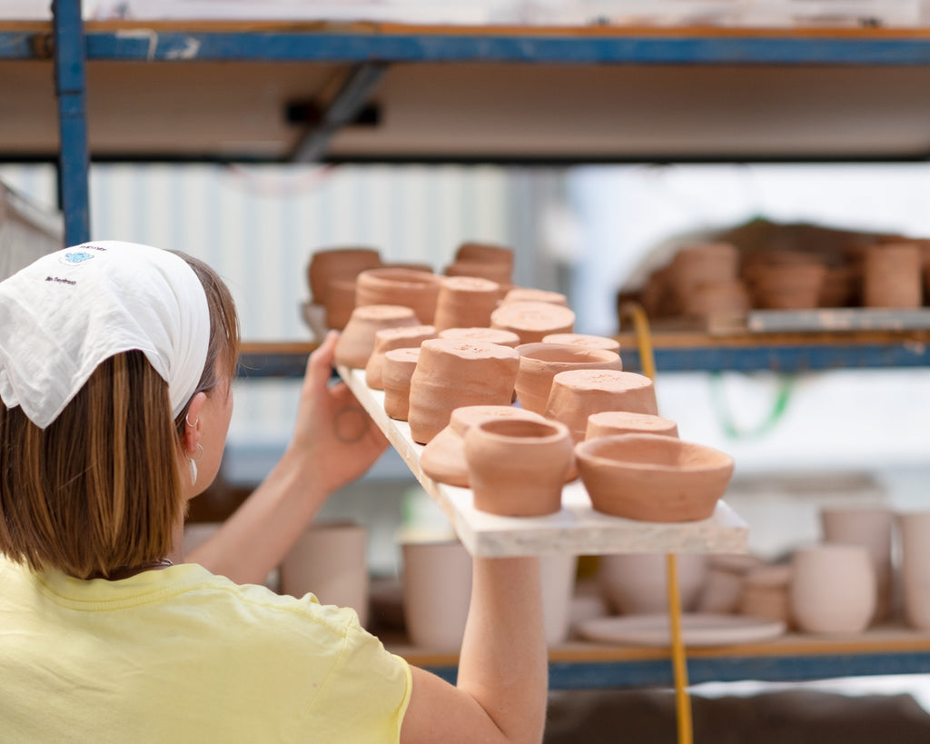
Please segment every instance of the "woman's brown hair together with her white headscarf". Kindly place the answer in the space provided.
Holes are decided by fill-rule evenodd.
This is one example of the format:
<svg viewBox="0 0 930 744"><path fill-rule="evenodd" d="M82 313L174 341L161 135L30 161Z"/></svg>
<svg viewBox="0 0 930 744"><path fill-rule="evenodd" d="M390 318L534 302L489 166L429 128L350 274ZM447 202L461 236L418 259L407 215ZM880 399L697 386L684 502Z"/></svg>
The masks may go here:
<svg viewBox="0 0 930 744"><path fill-rule="evenodd" d="M229 290L201 261L133 244L24 272L0 284L0 551L83 578L163 557L187 406L233 374Z"/></svg>

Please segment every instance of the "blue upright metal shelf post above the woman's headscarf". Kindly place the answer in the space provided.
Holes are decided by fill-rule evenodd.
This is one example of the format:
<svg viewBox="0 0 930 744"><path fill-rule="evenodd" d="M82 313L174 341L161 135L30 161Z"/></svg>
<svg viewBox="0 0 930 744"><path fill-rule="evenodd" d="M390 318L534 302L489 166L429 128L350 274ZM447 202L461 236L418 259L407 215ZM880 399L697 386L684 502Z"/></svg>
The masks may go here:
<svg viewBox="0 0 930 744"><path fill-rule="evenodd" d="M90 239L84 21L81 0L53 0L59 191L65 246Z"/></svg>

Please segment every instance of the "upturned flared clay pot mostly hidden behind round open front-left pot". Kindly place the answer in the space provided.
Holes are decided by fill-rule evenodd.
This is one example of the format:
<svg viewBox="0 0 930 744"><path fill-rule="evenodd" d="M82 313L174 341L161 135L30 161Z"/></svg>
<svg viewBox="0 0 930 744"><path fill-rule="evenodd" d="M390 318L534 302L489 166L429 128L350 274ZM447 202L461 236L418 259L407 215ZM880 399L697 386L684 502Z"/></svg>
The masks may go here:
<svg viewBox="0 0 930 744"><path fill-rule="evenodd" d="M423 447L419 466L438 483L469 487L465 462L465 432L484 419L529 419L545 421L532 411L512 405L464 405L452 411L448 426Z"/></svg>

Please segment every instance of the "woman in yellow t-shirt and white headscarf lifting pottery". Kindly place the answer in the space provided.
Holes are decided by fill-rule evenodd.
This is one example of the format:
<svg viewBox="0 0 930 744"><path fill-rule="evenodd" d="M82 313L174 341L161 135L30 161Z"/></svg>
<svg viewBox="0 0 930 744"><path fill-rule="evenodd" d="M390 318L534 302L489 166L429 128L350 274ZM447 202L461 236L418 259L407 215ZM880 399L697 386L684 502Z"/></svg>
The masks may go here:
<svg viewBox="0 0 930 744"><path fill-rule="evenodd" d="M545 716L535 559L476 559L458 684L348 609L255 584L384 447L349 445L308 363L291 445L198 556L190 498L219 470L238 345L193 259L91 243L0 283L0 721L5 741L531 742ZM207 570L210 569L210 570Z"/></svg>

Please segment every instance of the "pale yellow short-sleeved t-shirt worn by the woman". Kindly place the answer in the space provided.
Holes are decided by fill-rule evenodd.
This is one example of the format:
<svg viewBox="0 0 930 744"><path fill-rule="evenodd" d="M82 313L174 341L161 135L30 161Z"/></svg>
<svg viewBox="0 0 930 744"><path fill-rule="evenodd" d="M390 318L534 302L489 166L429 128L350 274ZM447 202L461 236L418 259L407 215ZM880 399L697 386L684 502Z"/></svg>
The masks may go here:
<svg viewBox="0 0 930 744"><path fill-rule="evenodd" d="M0 740L396 742L410 670L351 609L199 565L119 581L0 556Z"/></svg>

